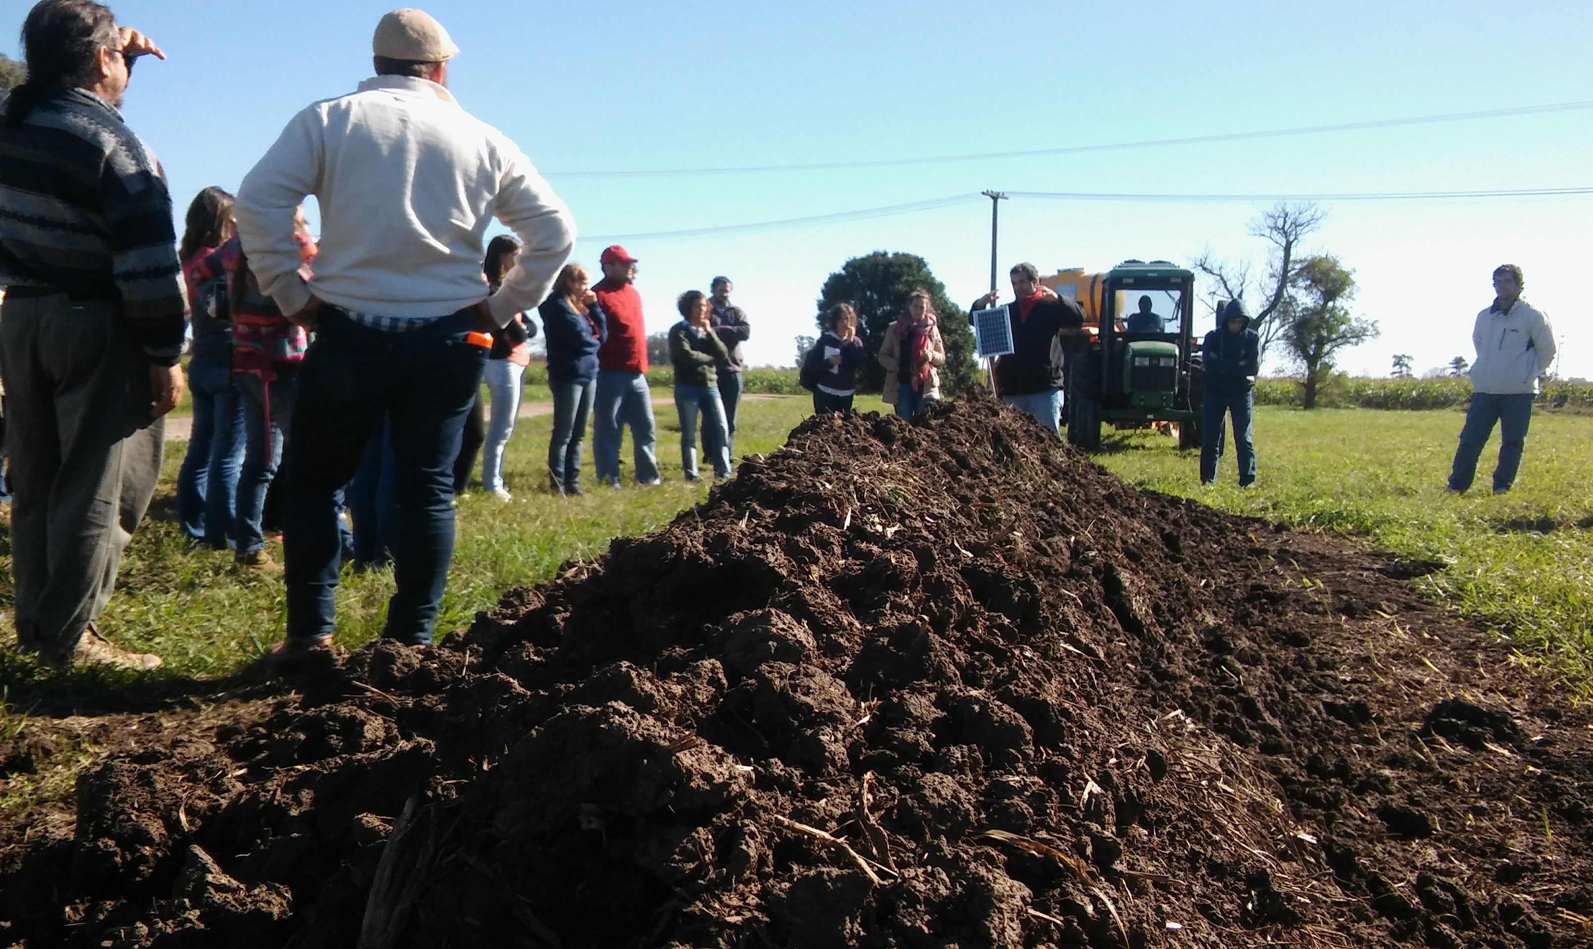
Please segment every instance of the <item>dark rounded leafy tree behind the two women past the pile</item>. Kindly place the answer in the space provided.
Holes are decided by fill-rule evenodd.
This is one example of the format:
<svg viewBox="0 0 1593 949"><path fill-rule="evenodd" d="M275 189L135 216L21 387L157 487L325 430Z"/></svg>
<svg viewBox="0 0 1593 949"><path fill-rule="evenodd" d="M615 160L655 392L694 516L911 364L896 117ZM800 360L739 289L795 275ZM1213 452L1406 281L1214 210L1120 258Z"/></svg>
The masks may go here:
<svg viewBox="0 0 1593 949"><path fill-rule="evenodd" d="M857 336L863 341L868 360L859 373L857 385L865 392L879 392L886 371L876 355L886 336L886 328L905 309L908 295L927 290L935 304L940 336L946 342L946 365L940 369L940 385L945 395L973 392L978 366L973 363L973 330L969 314L946 296L946 287L929 271L929 264L916 253L887 253L876 250L854 256L830 274L819 293L819 315L814 323L824 328L824 314L838 303L849 303L857 310Z"/></svg>

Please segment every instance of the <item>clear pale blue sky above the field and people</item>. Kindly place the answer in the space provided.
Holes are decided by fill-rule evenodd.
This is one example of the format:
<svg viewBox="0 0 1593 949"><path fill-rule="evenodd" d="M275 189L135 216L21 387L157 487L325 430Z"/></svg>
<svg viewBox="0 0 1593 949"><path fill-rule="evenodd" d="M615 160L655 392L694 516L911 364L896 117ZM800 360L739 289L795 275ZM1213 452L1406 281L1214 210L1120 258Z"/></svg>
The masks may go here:
<svg viewBox="0 0 1593 949"><path fill-rule="evenodd" d="M162 159L178 215L205 185L236 188L287 119L370 73L384 2L123 0L167 62L139 64L132 126ZM18 56L22 2L0 49ZM771 221L984 188L1110 193L1365 193L1593 185L1593 111L1453 124L983 159L884 169L690 177L561 172L739 167L1063 148L1512 108L1593 99L1593 5L1536 3L427 3L462 48L451 86L511 135L575 212L577 260L604 236ZM1002 269L1185 263L1262 247L1258 204L1002 205ZM1381 339L1344 368L1386 374L1472 357L1470 325L1499 263L1593 377L1580 287L1587 197L1327 204L1311 250L1356 271L1354 309ZM989 271L989 202L841 225L628 239L648 326L682 290L736 282L755 363L790 363L814 298L846 258L929 260L951 296ZM1257 260L1257 264L1260 261Z"/></svg>

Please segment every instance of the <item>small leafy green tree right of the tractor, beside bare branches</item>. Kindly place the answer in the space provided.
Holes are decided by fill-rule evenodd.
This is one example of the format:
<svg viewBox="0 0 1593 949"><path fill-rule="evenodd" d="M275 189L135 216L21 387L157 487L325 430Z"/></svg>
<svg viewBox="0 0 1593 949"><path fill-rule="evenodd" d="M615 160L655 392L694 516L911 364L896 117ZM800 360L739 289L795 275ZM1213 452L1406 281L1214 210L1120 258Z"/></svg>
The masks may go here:
<svg viewBox="0 0 1593 949"><path fill-rule="evenodd" d="M1354 317L1346 306L1356 296L1356 275L1338 258L1308 256L1289 277L1289 295L1278 341L1305 369L1301 408L1316 408L1316 393L1333 374L1338 350L1378 336L1376 322Z"/></svg>

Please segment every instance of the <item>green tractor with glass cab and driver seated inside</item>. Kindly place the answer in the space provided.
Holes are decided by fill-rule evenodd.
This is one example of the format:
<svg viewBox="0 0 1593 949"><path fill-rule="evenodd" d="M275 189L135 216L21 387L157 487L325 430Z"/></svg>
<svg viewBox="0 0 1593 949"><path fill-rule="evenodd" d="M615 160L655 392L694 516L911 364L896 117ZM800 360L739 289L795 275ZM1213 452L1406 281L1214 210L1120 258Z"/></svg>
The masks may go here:
<svg viewBox="0 0 1593 949"><path fill-rule="evenodd" d="M1085 310L1067 342L1067 441L1101 447L1101 425L1176 425L1180 449L1200 447L1200 344L1195 274L1168 261L1123 261L1106 274L1061 271L1040 280Z"/></svg>

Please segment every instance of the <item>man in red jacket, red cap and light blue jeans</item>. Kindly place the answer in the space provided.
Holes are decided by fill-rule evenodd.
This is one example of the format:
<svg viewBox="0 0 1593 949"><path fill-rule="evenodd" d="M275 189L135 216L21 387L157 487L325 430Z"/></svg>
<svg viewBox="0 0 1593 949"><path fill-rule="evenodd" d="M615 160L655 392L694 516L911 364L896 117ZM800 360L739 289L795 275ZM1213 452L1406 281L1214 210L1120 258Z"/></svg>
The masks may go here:
<svg viewBox="0 0 1593 949"><path fill-rule="evenodd" d="M653 393L647 389L647 323L636 291L636 258L615 244L602 252L602 280L593 287L609 315L609 339L597 349L593 400L593 462L597 481L620 486L620 428L631 427L636 482L658 484L653 443Z"/></svg>

